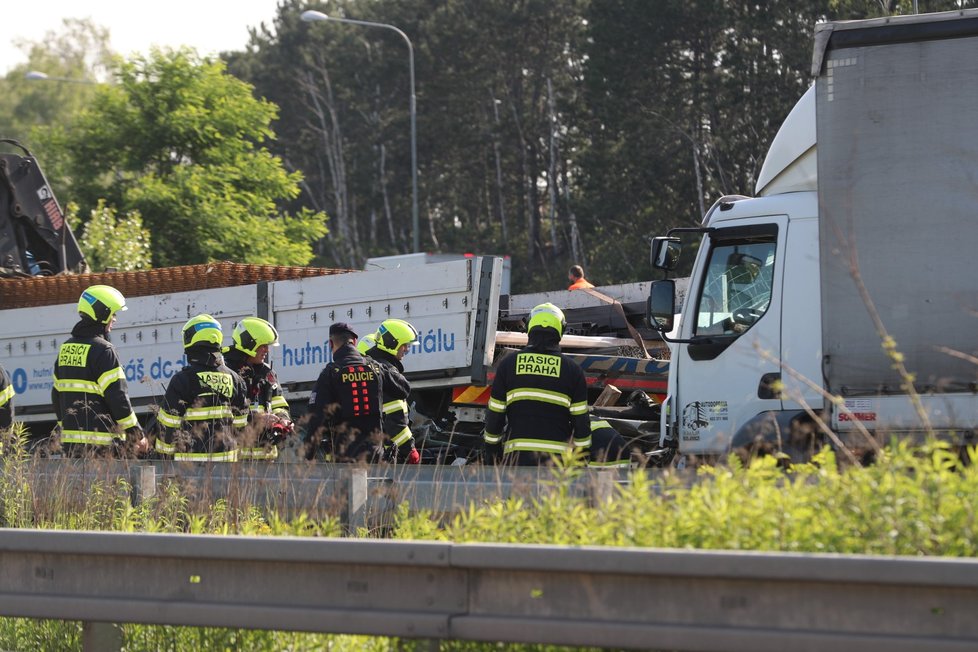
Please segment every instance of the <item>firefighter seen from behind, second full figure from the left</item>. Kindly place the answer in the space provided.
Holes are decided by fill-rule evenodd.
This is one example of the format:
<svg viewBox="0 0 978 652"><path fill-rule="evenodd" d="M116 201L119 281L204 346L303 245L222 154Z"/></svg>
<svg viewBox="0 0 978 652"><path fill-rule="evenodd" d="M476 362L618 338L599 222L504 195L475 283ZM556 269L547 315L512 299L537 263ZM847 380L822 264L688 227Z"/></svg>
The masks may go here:
<svg viewBox="0 0 978 652"><path fill-rule="evenodd" d="M156 451L178 461L234 462L248 425L248 388L224 364L221 324L207 314L183 326L187 366L166 388Z"/></svg>

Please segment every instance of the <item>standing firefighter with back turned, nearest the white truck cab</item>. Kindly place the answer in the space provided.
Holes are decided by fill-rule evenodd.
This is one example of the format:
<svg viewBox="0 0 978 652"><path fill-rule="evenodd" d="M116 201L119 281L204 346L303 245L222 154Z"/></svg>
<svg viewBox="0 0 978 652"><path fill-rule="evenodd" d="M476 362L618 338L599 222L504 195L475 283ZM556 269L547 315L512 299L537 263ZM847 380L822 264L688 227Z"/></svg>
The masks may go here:
<svg viewBox="0 0 978 652"><path fill-rule="evenodd" d="M564 313L541 304L528 326L527 346L496 370L483 434L492 461L520 466L549 464L591 444L584 372L560 352Z"/></svg>

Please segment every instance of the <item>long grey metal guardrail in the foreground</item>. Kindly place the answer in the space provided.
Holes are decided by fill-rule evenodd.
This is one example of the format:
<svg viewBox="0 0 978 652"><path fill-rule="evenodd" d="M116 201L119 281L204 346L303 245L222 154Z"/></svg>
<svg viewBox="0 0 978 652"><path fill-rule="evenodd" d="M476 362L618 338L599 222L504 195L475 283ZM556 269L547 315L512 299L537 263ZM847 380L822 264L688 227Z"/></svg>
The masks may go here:
<svg viewBox="0 0 978 652"><path fill-rule="evenodd" d="M0 614L670 650L974 650L978 560L0 530ZM117 639L118 640L118 639Z"/></svg>

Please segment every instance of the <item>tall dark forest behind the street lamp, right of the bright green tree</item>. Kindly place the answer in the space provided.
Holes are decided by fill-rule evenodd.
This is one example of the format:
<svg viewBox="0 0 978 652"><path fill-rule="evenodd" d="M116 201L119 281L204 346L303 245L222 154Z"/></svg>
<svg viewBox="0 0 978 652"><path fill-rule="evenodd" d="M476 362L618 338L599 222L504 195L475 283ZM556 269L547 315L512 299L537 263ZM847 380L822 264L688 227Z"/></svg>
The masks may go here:
<svg viewBox="0 0 978 652"><path fill-rule="evenodd" d="M974 2L919 2L920 11ZM303 23L280 3L229 69L281 107L271 146L325 210L329 264L411 242L409 76L389 30ZM513 256L515 291L648 278L648 238L752 194L767 146L812 82L816 22L911 2L333 0L415 51L420 239Z"/></svg>

